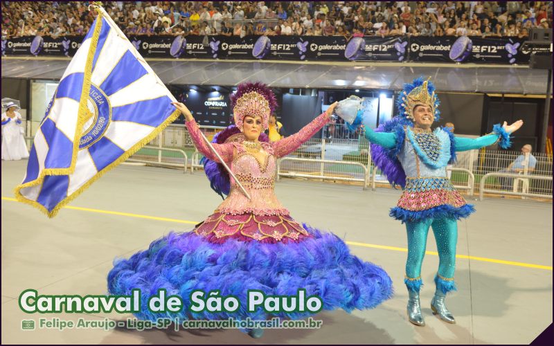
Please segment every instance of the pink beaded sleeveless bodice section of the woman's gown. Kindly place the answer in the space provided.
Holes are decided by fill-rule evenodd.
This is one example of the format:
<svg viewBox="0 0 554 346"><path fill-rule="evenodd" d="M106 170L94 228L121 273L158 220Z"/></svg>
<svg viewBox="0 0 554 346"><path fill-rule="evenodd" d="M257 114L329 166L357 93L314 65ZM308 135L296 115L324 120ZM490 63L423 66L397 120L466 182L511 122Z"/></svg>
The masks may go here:
<svg viewBox="0 0 554 346"><path fill-rule="evenodd" d="M217 207L217 212L242 214L252 212L255 215L289 215L275 196L276 159L268 153L265 162L244 151L238 144L231 162L231 170L250 194L249 200L231 179L229 196ZM269 148L268 148L269 149Z"/></svg>

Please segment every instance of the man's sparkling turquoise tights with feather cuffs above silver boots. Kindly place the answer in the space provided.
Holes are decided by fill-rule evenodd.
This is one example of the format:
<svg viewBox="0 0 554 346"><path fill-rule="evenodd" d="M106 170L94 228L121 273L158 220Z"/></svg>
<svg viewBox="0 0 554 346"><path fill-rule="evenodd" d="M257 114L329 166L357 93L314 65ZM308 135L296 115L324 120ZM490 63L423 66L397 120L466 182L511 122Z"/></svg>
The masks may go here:
<svg viewBox="0 0 554 346"><path fill-rule="evenodd" d="M406 222L408 235L408 260L406 260L406 278L404 282L411 291L420 291L421 265L425 256L427 234L433 228L438 249L438 272L435 277L437 289L447 293L456 289L454 269L456 268L456 242L458 225L456 219L440 218Z"/></svg>

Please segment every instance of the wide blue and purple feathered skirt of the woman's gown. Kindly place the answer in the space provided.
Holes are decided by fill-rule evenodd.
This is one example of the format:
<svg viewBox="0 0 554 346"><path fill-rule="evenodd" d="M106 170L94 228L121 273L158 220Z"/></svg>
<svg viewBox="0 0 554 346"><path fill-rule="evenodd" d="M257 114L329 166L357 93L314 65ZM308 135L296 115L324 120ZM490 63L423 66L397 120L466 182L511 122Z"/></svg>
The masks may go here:
<svg viewBox="0 0 554 346"><path fill-rule="evenodd" d="M274 244L229 237L225 242L209 242L190 233L170 233L139 251L128 260L114 261L108 275L112 295L130 295L141 290L141 309L136 317L143 320L187 319L266 320L280 317L305 318L309 312L267 313L262 308L247 311L247 291L265 295L318 295L324 310L371 309L391 298L393 286L387 273L370 262L352 255L336 235L303 225L310 233L298 242ZM184 307L179 313L153 313L148 299L159 289L167 295L179 295ZM240 309L234 312L192 313L190 295L195 290L218 290L220 295L234 295Z"/></svg>

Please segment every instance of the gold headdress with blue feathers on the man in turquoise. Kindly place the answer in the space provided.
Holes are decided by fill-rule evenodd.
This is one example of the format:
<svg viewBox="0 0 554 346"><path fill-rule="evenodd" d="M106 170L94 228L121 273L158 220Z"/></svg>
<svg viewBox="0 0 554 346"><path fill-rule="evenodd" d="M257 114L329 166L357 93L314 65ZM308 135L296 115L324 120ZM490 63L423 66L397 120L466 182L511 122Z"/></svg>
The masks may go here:
<svg viewBox="0 0 554 346"><path fill-rule="evenodd" d="M413 80L411 84L404 84L404 90L397 99L398 113L401 117L413 122L413 109L418 104L424 104L431 107L435 121L440 119L440 111L438 111L440 102L430 79L429 77L424 80L420 77Z"/></svg>

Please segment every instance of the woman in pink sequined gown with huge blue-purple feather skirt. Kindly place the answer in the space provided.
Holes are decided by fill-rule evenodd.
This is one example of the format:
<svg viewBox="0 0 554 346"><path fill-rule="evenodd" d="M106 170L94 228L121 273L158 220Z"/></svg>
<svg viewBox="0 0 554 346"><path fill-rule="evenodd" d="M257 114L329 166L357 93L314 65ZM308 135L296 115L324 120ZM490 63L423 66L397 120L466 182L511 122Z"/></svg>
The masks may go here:
<svg viewBox="0 0 554 346"><path fill-rule="evenodd" d="M204 142L192 114L176 102L197 149L206 156L206 174L212 188L228 196L192 232L170 233L154 241L148 250L116 262L108 277L110 293L129 294L138 288L147 302L158 289L166 289L167 295L179 295L184 301L182 311L170 316L176 322L192 318L266 320L310 316L309 312L298 311L267 313L262 308L247 311L249 290L292 296L305 289L306 296L319 296L326 310L370 309L390 298L391 279L382 268L350 254L336 235L292 219L274 194L276 159L314 136L330 120L335 105L298 133L269 143L263 131L276 107L274 93L265 84L241 84L232 102L236 126L218 134L213 147L250 199L217 166L219 158ZM241 308L235 312L192 313L188 310L189 298L195 290L234 295ZM146 304L136 316L147 320L168 317L153 313ZM263 329L247 331L256 338Z"/></svg>

